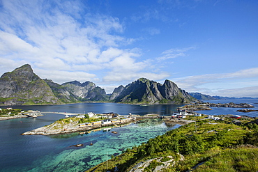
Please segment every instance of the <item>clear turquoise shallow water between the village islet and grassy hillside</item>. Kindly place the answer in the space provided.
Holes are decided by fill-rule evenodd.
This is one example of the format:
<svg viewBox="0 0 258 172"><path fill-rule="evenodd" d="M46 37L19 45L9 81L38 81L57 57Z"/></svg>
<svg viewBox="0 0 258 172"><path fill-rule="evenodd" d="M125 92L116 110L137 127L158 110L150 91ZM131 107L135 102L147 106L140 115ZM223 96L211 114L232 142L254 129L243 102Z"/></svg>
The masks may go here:
<svg viewBox="0 0 258 172"><path fill-rule="evenodd" d="M162 121L149 120L146 123L113 128L109 132L100 130L74 136L73 139L84 144L82 148L68 147L63 143L58 146L60 153L50 153L33 162L32 168L24 168L22 171L84 171L110 159L112 155L122 153L122 150L138 146L179 126L167 127ZM116 131L117 134L113 134L112 131Z"/></svg>

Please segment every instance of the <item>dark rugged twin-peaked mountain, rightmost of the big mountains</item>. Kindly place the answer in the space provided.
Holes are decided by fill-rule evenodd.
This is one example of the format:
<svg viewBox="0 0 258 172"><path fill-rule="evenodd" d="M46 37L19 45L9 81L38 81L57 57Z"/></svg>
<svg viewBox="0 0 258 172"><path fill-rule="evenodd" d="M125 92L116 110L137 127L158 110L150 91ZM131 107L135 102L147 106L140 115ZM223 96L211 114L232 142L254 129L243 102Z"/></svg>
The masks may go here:
<svg viewBox="0 0 258 172"><path fill-rule="evenodd" d="M159 84L155 81L141 78L123 88L123 91L114 97L114 102L185 104L193 99L193 97L178 88L172 81L166 80L164 84Z"/></svg>

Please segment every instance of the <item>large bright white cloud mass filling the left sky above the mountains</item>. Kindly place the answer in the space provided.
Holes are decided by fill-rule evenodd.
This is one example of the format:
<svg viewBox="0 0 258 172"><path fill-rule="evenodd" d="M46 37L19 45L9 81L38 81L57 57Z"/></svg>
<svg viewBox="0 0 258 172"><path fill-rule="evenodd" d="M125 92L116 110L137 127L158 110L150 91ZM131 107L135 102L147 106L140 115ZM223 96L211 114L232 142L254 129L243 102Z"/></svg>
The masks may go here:
<svg viewBox="0 0 258 172"><path fill-rule="evenodd" d="M59 84L76 79L103 80L105 85L169 76L151 71L155 64L141 59L141 49L121 48L136 39L123 36L117 17L89 13L82 1L4 0L1 9L0 54L8 67L0 72L29 63L37 75ZM149 33L160 31L149 28Z"/></svg>

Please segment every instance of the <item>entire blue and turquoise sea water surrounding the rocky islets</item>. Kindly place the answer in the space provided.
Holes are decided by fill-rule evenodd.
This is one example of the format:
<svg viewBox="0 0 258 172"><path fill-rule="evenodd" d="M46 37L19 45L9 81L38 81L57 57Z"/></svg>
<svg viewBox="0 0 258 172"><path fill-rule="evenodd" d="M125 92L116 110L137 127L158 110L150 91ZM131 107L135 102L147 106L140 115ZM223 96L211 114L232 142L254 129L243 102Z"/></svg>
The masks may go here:
<svg viewBox="0 0 258 172"><path fill-rule="evenodd" d="M247 102L258 109L258 100L225 100L209 102ZM167 127L161 120L146 120L145 123L132 123L109 131L95 130L89 134L58 134L52 136L23 136L24 132L54 123L64 118L54 112L84 114L87 112L114 112L120 115L160 114L171 115L182 105L135 105L115 103L80 103L40 106L14 106L24 110L49 111L50 114L38 118L17 118L0 120L0 171L85 171L101 162L119 155L123 150L139 146L155 136L165 134L179 127ZM1 107L6 108L6 107ZM202 114L241 114L258 116L257 112L240 113L239 108L213 108L211 111L198 111ZM113 134L112 131L118 132ZM70 147L77 143L84 146ZM93 146L90 146L93 143Z"/></svg>

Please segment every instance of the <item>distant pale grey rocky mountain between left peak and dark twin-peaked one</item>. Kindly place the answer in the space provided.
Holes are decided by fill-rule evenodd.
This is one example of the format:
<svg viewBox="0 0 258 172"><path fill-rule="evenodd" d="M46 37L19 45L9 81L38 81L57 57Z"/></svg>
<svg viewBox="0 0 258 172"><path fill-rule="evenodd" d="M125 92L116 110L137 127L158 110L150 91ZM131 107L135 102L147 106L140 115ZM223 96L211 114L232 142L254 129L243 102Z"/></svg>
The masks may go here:
<svg viewBox="0 0 258 172"><path fill-rule="evenodd" d="M91 81L82 84L79 81L71 81L62 84L62 86L83 101L106 101L108 99L105 90Z"/></svg>

